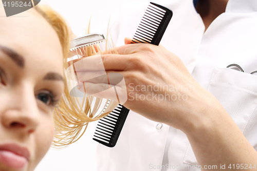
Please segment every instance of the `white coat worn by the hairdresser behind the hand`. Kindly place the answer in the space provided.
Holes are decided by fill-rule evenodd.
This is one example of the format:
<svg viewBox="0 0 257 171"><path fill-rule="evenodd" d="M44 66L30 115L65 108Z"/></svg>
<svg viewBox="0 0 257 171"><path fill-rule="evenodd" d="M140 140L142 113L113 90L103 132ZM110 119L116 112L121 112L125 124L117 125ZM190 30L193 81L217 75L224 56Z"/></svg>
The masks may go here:
<svg viewBox="0 0 257 171"><path fill-rule="evenodd" d="M257 70L257 1L229 0L226 12L206 32L192 1L156 3L173 10L161 44L178 55L194 79L221 102L257 150L257 75L250 74ZM124 45L124 37L133 37L148 5L127 3L121 9L112 29L116 46ZM226 68L230 64L245 72ZM130 111L116 146L98 145L97 170L200 170L192 167L197 161L186 135L165 124L158 130L157 125ZM185 164L192 169L181 168Z"/></svg>

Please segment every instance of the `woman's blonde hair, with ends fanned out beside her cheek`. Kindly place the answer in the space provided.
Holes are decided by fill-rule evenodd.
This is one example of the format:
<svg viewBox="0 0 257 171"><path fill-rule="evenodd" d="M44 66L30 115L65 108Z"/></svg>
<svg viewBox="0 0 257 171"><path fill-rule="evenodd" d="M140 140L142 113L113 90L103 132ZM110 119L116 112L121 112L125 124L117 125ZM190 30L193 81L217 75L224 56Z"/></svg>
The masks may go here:
<svg viewBox="0 0 257 171"><path fill-rule="evenodd" d="M65 70L65 68L67 68L71 31L63 17L56 11L52 10L49 6L38 5L35 9L46 19L59 36L63 50ZM89 29L87 30L87 33L89 33ZM99 46L98 48L100 49ZM96 54L94 46L84 47L83 52L83 56ZM100 109L103 99L85 95L82 103L80 103L78 98L70 95L66 80L65 83L65 90L62 99L53 112L56 135L54 136L52 147L55 148L66 147L71 143L78 141L84 134L89 122L101 119L109 113L104 112L104 109ZM90 106L93 99L95 100L95 105L92 109ZM107 105L108 101L109 104ZM112 111L118 105L118 102L107 100L104 106L106 105L108 108L107 111ZM96 115L97 111L101 112Z"/></svg>

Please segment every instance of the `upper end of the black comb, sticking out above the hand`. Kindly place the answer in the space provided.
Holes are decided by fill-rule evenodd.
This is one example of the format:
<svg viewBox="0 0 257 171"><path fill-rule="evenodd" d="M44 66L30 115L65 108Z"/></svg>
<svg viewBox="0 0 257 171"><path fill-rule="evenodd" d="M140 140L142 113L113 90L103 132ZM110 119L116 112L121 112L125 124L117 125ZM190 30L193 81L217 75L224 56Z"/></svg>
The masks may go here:
<svg viewBox="0 0 257 171"><path fill-rule="evenodd" d="M169 8L151 3L146 9L132 41L134 43L159 45L172 14Z"/></svg>

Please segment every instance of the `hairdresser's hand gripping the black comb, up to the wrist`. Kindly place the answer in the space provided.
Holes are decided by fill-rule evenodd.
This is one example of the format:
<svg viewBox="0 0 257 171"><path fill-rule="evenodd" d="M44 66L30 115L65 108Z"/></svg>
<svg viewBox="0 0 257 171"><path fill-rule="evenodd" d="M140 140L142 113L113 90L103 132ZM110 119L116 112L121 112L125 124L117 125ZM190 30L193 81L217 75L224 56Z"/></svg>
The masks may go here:
<svg viewBox="0 0 257 171"><path fill-rule="evenodd" d="M162 46L130 43L130 39L125 39L126 45L116 48L118 54L107 51L101 55L107 73L121 73L125 78L125 107L185 130L192 121L197 123L203 118L201 114L211 106L218 106L217 100L192 78L174 53ZM88 72L81 67L77 71Z"/></svg>

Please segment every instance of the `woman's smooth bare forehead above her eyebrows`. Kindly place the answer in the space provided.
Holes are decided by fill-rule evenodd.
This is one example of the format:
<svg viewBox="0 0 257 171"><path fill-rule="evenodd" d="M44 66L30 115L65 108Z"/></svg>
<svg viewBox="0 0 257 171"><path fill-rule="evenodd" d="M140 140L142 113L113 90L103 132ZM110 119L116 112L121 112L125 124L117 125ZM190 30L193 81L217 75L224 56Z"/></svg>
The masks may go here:
<svg viewBox="0 0 257 171"><path fill-rule="evenodd" d="M3 13L0 8L0 15ZM0 45L24 56L25 67L39 65L38 69L62 71L63 55L58 35L36 10L0 17L0 23Z"/></svg>

